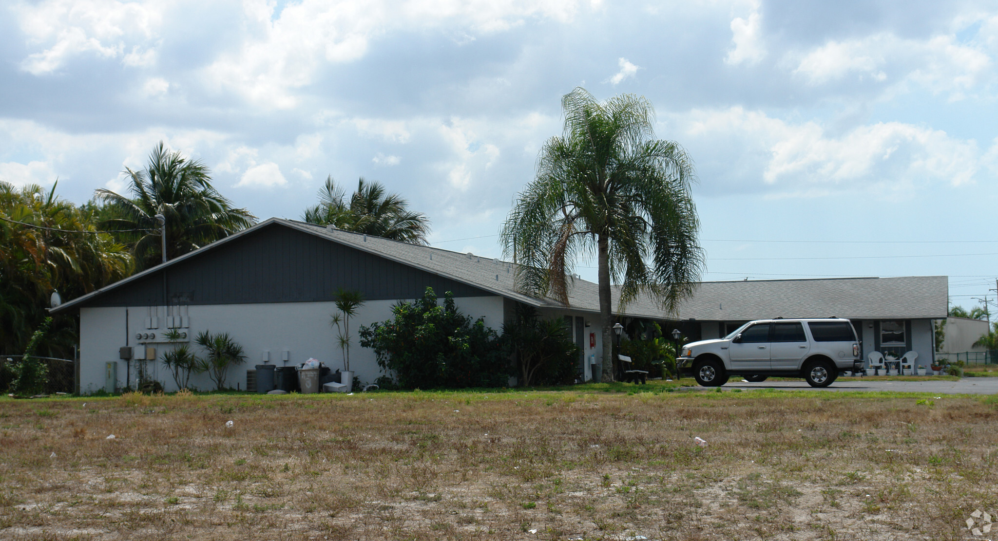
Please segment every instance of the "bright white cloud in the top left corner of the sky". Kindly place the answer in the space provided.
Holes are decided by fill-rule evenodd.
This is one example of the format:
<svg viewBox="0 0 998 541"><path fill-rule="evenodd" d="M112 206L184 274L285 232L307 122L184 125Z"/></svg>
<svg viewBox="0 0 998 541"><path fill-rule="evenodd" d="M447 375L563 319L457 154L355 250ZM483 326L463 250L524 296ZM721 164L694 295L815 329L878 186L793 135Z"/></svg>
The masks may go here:
<svg viewBox="0 0 998 541"><path fill-rule="evenodd" d="M42 48L29 54L21 68L33 75L44 75L87 53L121 58L127 66L152 65L158 45L156 34L166 7L159 1L19 2L11 12L17 16L29 46Z"/></svg>

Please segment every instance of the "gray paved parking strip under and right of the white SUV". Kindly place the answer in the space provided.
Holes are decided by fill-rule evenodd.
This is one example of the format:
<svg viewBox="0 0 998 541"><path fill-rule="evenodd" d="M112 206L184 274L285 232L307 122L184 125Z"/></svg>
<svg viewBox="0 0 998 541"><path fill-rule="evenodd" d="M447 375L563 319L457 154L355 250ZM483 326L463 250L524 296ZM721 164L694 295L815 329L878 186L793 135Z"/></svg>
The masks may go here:
<svg viewBox="0 0 998 541"><path fill-rule="evenodd" d="M705 388L705 387L693 387ZM839 377L831 385L814 388L803 379L787 381L762 381L749 383L732 377L725 388L740 389L795 389L795 390L894 390L899 392L932 392L936 394L998 394L998 377L964 377L959 381L864 381L861 377Z"/></svg>

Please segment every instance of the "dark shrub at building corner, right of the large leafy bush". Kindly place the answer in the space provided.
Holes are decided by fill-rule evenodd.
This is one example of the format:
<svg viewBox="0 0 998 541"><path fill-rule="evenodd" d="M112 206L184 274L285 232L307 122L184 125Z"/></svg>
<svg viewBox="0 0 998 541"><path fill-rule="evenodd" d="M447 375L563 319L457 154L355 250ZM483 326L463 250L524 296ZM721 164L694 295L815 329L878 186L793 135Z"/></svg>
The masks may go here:
<svg viewBox="0 0 998 541"><path fill-rule="evenodd" d="M571 383L575 377L579 346L564 319L541 319L533 306L517 304L514 319L503 324L502 341L523 385Z"/></svg>

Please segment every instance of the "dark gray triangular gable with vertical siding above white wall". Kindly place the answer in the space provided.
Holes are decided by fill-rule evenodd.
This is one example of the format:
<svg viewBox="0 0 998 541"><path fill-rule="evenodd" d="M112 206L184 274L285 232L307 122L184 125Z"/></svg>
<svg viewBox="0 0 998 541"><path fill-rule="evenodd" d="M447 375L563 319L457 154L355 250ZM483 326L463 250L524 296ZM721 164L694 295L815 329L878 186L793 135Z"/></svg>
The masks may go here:
<svg viewBox="0 0 998 541"><path fill-rule="evenodd" d="M170 303L241 304L330 300L340 288L369 300L438 294L493 295L425 270L273 224L171 266ZM153 272L95 297L88 306L163 304L163 274Z"/></svg>

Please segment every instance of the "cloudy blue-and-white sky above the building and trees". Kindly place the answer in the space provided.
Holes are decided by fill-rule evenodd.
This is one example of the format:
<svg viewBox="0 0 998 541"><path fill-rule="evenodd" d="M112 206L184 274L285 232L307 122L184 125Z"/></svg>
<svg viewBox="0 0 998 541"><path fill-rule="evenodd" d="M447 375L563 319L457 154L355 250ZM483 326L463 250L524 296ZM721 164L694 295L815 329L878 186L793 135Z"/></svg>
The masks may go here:
<svg viewBox="0 0 998 541"><path fill-rule="evenodd" d="M364 177L498 257L582 86L694 157L707 279L994 296L996 2L8 0L0 55L0 179L78 203L163 140L260 219Z"/></svg>

